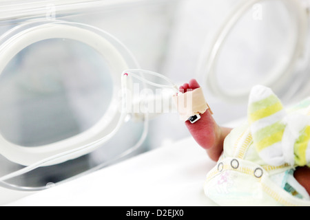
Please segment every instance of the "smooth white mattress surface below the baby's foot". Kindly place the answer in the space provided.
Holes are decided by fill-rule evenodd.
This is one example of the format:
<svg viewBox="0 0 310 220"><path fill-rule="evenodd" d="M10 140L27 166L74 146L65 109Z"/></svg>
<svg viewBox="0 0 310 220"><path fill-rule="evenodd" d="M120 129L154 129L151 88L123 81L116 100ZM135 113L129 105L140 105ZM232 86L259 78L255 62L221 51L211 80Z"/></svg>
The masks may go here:
<svg viewBox="0 0 310 220"><path fill-rule="evenodd" d="M214 206L203 183L215 164L191 137L8 206Z"/></svg>

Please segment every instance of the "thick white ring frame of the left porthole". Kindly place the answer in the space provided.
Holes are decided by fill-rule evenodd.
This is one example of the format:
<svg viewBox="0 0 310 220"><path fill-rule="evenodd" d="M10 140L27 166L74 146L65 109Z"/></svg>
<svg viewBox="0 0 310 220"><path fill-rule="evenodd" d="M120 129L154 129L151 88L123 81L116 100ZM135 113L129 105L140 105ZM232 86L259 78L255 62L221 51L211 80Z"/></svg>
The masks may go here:
<svg viewBox="0 0 310 220"><path fill-rule="evenodd" d="M42 41L50 40L72 42L77 41L81 45L85 44L88 48L87 50L90 50L91 48L92 50L97 52L99 56L95 59L99 59L100 57L101 61L87 61L87 58L83 56L85 61L81 61L81 63L89 62L90 65L94 65L94 63L100 63L100 65L107 66L102 66L101 68L99 68L99 75L101 76L103 72L109 72L110 79L107 80L109 77L105 76L104 82L110 85L112 84L112 89L110 89L110 91L106 91L105 95L103 95L103 92L105 91L101 91L96 95L103 95L99 98L101 99L101 101L103 98L105 98L105 96L109 96L111 101L108 104L105 103L105 109L99 108L101 109L101 112L99 113L101 114L101 118L99 118L99 120L98 118L94 120L96 121L95 124L88 124L88 127L90 127L89 129L85 127L84 131L79 132L76 135L73 134L72 136L71 134L71 137L65 137L63 140L54 141L50 144L45 143L35 147L27 147L24 146L25 144L15 144L14 142L6 140L5 137L0 135L1 155L9 159L11 162L21 164L23 166L29 166L30 164L33 165L39 162L39 164L41 164L42 166L51 166L54 164L59 164L61 162L66 162L69 159L81 157L82 155L91 153L92 151L95 151L96 148L103 146L103 144L110 140L113 137L114 133L119 130L120 126L123 125L123 114L121 109L122 99L119 96L119 91L122 88L121 74L125 69L139 69L134 56L132 56L132 53L127 50L125 45L123 45L123 43L118 41L118 39L116 39L111 34L100 30L99 28L85 25L82 23L37 20L22 23L21 25L12 28L12 30L8 30L6 34L3 34L0 37L0 73L2 73L3 71L5 72L6 68L10 67L10 62L14 60L14 58L17 57L18 54L25 52L28 47L32 47L36 43L41 43ZM74 47L72 48L72 50L76 50L76 48ZM43 52L44 54L44 50L41 50L40 52ZM74 53L73 55L70 55L70 58L72 58L72 56L74 57ZM63 56L63 54L61 54L60 56ZM63 62L69 61L68 57L64 58ZM72 69L72 63L71 65L61 66ZM74 68L75 67L73 67L73 69ZM88 68L83 69L83 67L81 66L78 66L76 68L79 70L87 69L88 71L86 70L85 72L87 73L88 77L91 77L92 74L96 72ZM44 71L48 70L49 69L44 69ZM57 80L57 78L55 80L55 78L53 78L53 73L49 74L49 77L50 78L48 78L46 82L48 82L47 85L50 85L50 82L54 82L51 87L42 87L42 83L39 83L39 86L37 85L37 87L34 87L39 91L41 90L41 94L46 94L55 90L57 91L57 89L58 91L61 91L61 89L63 89L60 83L61 80ZM81 81L85 83L84 80ZM103 83L103 80L97 80L96 78L94 78L94 81L99 84ZM25 82L25 85L27 85L27 83L31 84L31 80L25 80ZM21 85L23 85L23 83L21 83ZM32 84L36 85L35 83ZM71 86L74 88L74 85ZM87 85L86 87L90 88L91 86ZM106 88L107 87L105 87L105 89ZM82 94L87 94L87 89L82 89L82 91ZM27 93L28 95L33 94L33 91L27 91L26 94ZM68 95L66 96L68 97ZM88 100L88 98L85 98L85 100ZM94 102L98 102L98 99L96 98L94 98L93 100ZM76 104L81 104L81 106L85 108L90 107L90 104L85 104L83 102L76 102ZM52 108L53 106L50 104L49 107ZM79 108L75 109L79 110ZM12 109L12 111L17 110L17 108ZM9 114L10 113L11 112L9 112ZM87 111L86 109L85 117L87 116L92 116L92 111ZM54 123L54 120L49 120L48 123ZM143 126L146 132L147 122L145 122ZM27 126L25 130L27 130ZM145 137L145 135L143 135L143 137ZM134 148L135 147L126 149L126 152L131 152Z"/></svg>

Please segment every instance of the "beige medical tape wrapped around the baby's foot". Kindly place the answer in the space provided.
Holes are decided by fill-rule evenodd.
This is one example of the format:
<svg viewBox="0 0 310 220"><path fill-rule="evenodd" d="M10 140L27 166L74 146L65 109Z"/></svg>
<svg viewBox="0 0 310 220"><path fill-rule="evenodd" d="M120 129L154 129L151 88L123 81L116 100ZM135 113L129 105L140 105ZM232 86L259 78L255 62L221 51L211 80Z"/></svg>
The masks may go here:
<svg viewBox="0 0 310 220"><path fill-rule="evenodd" d="M201 88L187 91L185 94L177 94L173 96L173 100L180 114L180 120L183 121L187 121L193 115L203 114L208 109L211 111Z"/></svg>

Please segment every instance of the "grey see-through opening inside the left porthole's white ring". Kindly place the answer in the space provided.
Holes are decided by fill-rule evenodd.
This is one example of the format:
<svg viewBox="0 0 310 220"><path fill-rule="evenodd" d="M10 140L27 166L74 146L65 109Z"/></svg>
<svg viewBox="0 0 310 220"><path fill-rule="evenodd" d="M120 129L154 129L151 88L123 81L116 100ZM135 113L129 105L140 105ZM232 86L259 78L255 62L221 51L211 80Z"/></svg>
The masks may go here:
<svg viewBox="0 0 310 220"><path fill-rule="evenodd" d="M92 47L70 39L34 43L0 75L0 132L40 146L90 129L112 100L110 68Z"/></svg>

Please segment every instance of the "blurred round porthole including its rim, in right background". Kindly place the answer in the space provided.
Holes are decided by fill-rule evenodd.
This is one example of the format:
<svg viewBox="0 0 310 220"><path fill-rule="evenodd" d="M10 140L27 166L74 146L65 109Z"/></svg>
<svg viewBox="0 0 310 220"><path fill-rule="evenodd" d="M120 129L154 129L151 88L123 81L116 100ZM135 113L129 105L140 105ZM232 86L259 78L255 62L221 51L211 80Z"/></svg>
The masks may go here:
<svg viewBox="0 0 310 220"><path fill-rule="evenodd" d="M307 14L298 1L242 1L205 47L200 75L229 101L247 100L254 85L282 91L296 74L306 36Z"/></svg>

